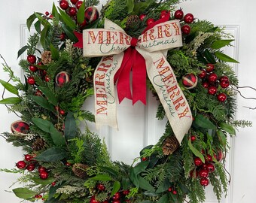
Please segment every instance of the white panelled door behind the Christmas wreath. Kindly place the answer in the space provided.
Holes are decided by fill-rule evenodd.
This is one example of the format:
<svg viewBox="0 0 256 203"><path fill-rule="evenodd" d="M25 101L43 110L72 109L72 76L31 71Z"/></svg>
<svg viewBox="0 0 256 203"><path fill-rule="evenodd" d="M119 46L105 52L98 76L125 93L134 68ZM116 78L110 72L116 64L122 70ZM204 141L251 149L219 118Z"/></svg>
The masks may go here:
<svg viewBox="0 0 256 203"><path fill-rule="evenodd" d="M123 0L125 1L125 0ZM57 2L54 1L56 4ZM102 1L105 2L105 1ZM0 53L5 57L8 65L14 68L17 75L22 75L17 59L17 50L25 43L29 33L26 30L26 18L33 11L50 11L52 0L20 0L1 1L2 11L0 12ZM256 33L255 12L256 2L248 0L193 0L182 2L178 7L183 8L184 13L192 13L200 20L206 19L218 26L226 26L228 32L235 36L234 47L227 49L227 53L239 60L240 64L234 66L239 77L240 86L256 87L256 74L254 74L256 56ZM2 59L1 59L1 62ZM0 78L8 80L8 74L0 68ZM2 95L2 86L0 94ZM242 90L246 96L256 97L255 91ZM93 109L93 100L85 104L86 108ZM248 110L243 106L256 107L255 100L245 100L237 97L238 113L236 119L251 120L256 123L256 110ZM133 162L133 158L139 155L139 150L145 145L154 144L162 135L165 123L155 120L157 102L148 96L148 105L140 103L132 106L130 101L123 101L117 108L117 119L119 131L110 128L101 129L99 134L105 137L109 152L113 160L122 160L126 163ZM10 130L11 123L18 118L14 114L8 114L5 106L0 106L0 132ZM93 126L92 126L93 127ZM227 157L227 169L232 176L230 192L222 203L253 203L254 189L256 189L256 174L254 168L256 162L256 137L254 136L255 126L250 129L239 129L236 139L230 141L232 147L230 156ZM14 148L11 144L5 143L0 138L0 168L14 168L15 162L23 159L21 150ZM17 180L17 175L0 172L0 202L20 202L14 194L5 192L11 190L11 186ZM207 201L218 202L207 189Z"/></svg>

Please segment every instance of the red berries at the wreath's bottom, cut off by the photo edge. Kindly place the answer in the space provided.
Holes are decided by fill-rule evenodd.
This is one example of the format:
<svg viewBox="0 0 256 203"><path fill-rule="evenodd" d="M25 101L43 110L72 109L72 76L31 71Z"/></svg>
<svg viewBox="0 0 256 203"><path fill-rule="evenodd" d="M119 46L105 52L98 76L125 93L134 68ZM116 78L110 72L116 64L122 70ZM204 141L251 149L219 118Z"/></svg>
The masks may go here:
<svg viewBox="0 0 256 203"><path fill-rule="evenodd" d="M99 192L104 191L105 190L105 186L102 183L97 184L96 186L97 190ZM130 199L126 198L126 195L129 195L130 190L123 190L121 192L116 192L111 198L109 198L108 200L105 201L97 201L96 197L93 196L92 198L90 198L90 203L120 203L120 202L130 202Z"/></svg>

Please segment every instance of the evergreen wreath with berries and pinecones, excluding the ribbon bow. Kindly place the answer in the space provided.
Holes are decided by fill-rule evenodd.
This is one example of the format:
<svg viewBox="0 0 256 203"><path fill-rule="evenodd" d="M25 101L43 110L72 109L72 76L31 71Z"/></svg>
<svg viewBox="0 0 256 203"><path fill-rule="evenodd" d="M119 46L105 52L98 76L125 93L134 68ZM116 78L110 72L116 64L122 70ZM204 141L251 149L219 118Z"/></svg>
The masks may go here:
<svg viewBox="0 0 256 203"><path fill-rule="evenodd" d="M197 203L205 201L209 183L218 201L227 195L227 137L235 135L239 126L251 126L234 120L238 80L227 62L236 60L221 51L233 39L207 20L175 10L178 2L109 0L99 17L94 7L97 0L60 0L59 8L53 4L50 13L36 12L28 18L28 29L35 22L36 33L18 52L18 57L27 54L27 59L20 60L26 81L16 77L6 62L3 68L10 80L0 80L15 95L0 103L21 118L12 123L11 132L2 135L26 152L17 168L2 169L22 174L18 181L26 186L13 189L17 197L72 203ZM171 20L180 20L183 46L169 50L167 60L187 98L193 124L181 145L167 122L157 144L142 149L133 165L112 162L104 141L90 129L78 128L83 120L95 121L81 107L93 95L99 58L86 58L74 47L78 41L74 31L102 28L107 18L138 38L169 14ZM147 85L159 100L150 80ZM157 119L165 116L160 103Z"/></svg>

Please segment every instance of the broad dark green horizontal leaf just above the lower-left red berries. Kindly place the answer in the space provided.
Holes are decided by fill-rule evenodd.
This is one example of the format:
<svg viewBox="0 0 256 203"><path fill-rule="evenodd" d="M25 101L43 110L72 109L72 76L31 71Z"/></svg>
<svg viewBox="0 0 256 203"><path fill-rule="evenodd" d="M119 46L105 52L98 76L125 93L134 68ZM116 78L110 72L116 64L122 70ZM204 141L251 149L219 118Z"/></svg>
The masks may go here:
<svg viewBox="0 0 256 203"><path fill-rule="evenodd" d="M48 148L34 159L42 162L57 162L66 158L68 155L69 153L66 152L66 150L60 148Z"/></svg>

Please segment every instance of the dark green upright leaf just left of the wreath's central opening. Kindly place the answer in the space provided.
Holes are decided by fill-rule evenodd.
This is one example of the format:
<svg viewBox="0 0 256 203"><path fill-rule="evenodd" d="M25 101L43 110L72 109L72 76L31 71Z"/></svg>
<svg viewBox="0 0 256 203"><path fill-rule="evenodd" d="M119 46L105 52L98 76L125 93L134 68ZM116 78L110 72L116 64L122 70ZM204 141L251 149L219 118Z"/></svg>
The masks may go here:
<svg viewBox="0 0 256 203"><path fill-rule="evenodd" d="M65 120L64 134L67 140L75 138L77 133L77 125L75 123L75 117L72 112L69 112Z"/></svg>

